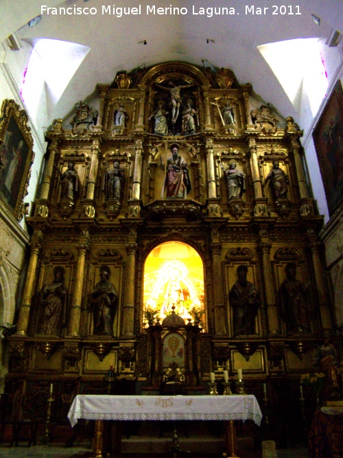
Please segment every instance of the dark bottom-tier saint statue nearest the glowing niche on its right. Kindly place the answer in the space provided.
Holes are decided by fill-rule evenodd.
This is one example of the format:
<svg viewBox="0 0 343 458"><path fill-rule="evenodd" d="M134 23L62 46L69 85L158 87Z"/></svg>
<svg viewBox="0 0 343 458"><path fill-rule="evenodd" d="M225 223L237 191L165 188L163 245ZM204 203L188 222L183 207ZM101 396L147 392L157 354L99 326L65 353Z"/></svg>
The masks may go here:
<svg viewBox="0 0 343 458"><path fill-rule="evenodd" d="M229 293L230 306L233 308L233 334L255 334L255 320L261 303L259 291L255 284L248 282L248 267L241 264L237 267L237 282Z"/></svg>

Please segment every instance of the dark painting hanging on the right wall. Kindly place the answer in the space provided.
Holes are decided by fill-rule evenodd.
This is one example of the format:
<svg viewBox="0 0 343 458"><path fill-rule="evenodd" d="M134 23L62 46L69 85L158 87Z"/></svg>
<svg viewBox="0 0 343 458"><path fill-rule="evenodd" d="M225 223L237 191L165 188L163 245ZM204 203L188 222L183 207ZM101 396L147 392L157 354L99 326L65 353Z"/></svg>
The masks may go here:
<svg viewBox="0 0 343 458"><path fill-rule="evenodd" d="M332 216L343 200L343 91L340 80L314 128L313 137Z"/></svg>

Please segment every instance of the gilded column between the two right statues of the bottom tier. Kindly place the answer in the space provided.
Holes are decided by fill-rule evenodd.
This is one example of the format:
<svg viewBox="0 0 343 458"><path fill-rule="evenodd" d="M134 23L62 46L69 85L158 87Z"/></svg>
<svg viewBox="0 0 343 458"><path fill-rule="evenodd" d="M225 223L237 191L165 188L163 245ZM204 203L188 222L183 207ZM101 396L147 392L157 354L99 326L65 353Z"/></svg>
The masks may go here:
<svg viewBox="0 0 343 458"><path fill-rule="evenodd" d="M262 240L260 240L259 242L259 251L262 257L262 270L265 284L265 299L267 301L266 305L268 315L268 334L270 336L274 336L280 334L280 330L273 284L272 264L270 262L270 249L272 247L272 244L265 242L265 240L263 240L263 236L265 235L263 231L264 229L262 229L260 233L260 238Z"/></svg>

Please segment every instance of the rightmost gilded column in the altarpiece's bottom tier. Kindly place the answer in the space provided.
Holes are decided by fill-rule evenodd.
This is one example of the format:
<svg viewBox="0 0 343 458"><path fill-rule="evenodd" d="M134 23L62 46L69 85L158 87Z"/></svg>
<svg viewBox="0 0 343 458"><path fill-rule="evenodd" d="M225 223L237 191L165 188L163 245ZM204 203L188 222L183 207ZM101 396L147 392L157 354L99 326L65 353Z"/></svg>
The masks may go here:
<svg viewBox="0 0 343 458"><path fill-rule="evenodd" d="M329 308L329 304L327 301L327 291L324 284L324 271L322 268L322 262L320 260L320 253L319 247L320 242L318 242L314 231L309 229L308 231L309 236L309 244L308 247L311 250L312 254L312 262L314 266L314 276L316 277L316 290L317 290L317 297L318 297L318 305L320 310L320 318L322 320L322 327L323 329L331 329L332 328L332 320L331 320L331 312Z"/></svg>

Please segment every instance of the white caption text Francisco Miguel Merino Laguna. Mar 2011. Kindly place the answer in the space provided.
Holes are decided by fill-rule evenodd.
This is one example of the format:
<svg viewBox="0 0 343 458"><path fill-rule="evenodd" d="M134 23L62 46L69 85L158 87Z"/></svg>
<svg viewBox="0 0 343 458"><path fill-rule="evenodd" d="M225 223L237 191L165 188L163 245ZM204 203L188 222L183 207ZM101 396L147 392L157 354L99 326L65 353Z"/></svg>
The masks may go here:
<svg viewBox="0 0 343 458"><path fill-rule="evenodd" d="M281 12L281 8L283 8ZM269 10L269 11L268 11ZM80 15L80 14L110 14L112 16L122 17L122 16L130 16L130 15L164 15L164 16L178 16L178 15L185 15L185 14L193 14L193 15L204 15L207 17L212 17L215 15L220 16L228 16L228 15L235 15L239 14L237 10L233 7L226 7L226 6L218 6L218 7L207 7L202 8L196 5L192 5L192 8L178 8L174 7L173 5L169 5L165 8L156 7L156 5L137 5L137 7L130 8L128 6L116 6L116 5L102 5L102 9L98 10L98 8L93 7L80 7L80 6L68 6L68 7L50 7L47 5L40 6L40 14L51 14L51 15L61 15L61 16L73 16L73 15ZM257 15L265 15L265 14L301 14L299 11L298 5L283 5L283 7L279 7L276 5L270 5L268 7L255 7L254 5L244 5L241 14L257 14Z"/></svg>

